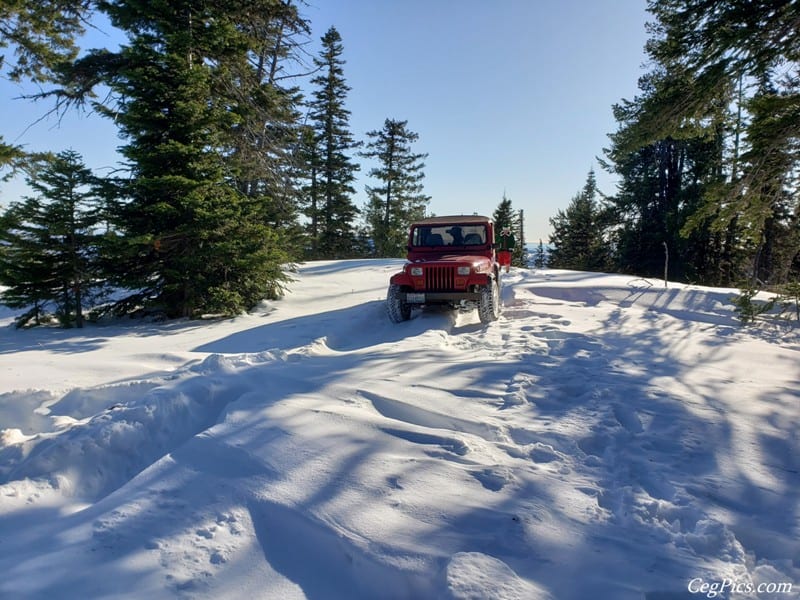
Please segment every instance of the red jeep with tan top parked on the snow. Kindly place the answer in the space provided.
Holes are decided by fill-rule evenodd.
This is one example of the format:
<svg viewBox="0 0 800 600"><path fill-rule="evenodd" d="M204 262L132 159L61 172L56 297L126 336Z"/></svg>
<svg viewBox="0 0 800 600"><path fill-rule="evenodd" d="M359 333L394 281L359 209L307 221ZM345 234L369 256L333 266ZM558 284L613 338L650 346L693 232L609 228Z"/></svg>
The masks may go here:
<svg viewBox="0 0 800 600"><path fill-rule="evenodd" d="M434 304L477 307L482 323L500 315L500 266L489 217L423 219L411 226L408 262L392 276L386 305L399 323L414 307Z"/></svg>

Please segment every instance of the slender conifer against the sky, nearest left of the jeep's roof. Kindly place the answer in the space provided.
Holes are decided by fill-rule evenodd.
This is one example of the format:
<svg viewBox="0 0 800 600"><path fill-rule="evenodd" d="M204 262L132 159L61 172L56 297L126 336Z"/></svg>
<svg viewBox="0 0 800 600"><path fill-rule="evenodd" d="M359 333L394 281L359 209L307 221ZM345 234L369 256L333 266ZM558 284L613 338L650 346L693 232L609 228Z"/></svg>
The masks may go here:
<svg viewBox="0 0 800 600"><path fill-rule="evenodd" d="M414 154L411 144L419 138L406 128L408 121L386 119L383 129L369 131L372 138L367 144L365 158L376 159L378 167L370 170L370 177L382 185L367 186L369 198L365 220L377 256L404 256L408 229L412 222L425 215L430 197L422 193L425 177L421 161L427 154Z"/></svg>

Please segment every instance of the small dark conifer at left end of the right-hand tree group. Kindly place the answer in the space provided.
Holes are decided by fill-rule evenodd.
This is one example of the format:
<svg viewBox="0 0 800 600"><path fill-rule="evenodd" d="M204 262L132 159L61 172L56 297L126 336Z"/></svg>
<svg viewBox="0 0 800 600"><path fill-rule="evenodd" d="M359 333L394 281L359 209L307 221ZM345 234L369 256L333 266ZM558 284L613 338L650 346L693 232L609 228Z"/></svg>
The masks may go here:
<svg viewBox="0 0 800 600"><path fill-rule="evenodd" d="M601 211L597 206L597 183L589 171L583 190L570 201L565 211L550 219L548 266L577 271L597 271L607 264Z"/></svg>

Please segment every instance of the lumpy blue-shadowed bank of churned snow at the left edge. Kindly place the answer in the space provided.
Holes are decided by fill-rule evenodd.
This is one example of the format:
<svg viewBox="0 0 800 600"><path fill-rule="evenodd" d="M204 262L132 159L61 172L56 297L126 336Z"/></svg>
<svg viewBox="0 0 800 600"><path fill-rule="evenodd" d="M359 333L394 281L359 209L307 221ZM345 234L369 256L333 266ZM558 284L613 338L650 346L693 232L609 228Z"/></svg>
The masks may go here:
<svg viewBox="0 0 800 600"><path fill-rule="evenodd" d="M274 355L255 358L263 362ZM4 480L45 479L63 493L85 500L109 494L217 422L223 409L246 391L237 381L234 362L211 355L162 385L140 382L134 387L121 384L70 392L59 403L62 410L81 412L87 404L98 403L107 408L80 420L71 418L70 424L62 420L54 432L5 434L0 448L6 453L6 465L12 462L12 450L17 460ZM92 401L76 402L87 397Z"/></svg>

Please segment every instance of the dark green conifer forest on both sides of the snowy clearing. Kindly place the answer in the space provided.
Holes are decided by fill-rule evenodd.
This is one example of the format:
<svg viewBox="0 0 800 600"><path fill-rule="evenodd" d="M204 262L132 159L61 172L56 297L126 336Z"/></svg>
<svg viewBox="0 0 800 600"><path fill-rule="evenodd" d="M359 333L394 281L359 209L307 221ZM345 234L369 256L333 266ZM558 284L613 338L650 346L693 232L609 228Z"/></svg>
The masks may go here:
<svg viewBox="0 0 800 600"><path fill-rule="evenodd" d="M796 291L800 3L647 6L639 92L609 107L617 129L596 149L617 188L601 193L593 170L576 182L537 266ZM279 297L293 262L405 254L428 211L428 155L399 119L355 138L347 40L331 27L308 56L304 9L0 0L3 76L35 83L30 100L56 113L111 119L124 159L99 176L73 151L30 154L0 137L0 175L33 190L0 209L0 301L26 309L19 325L81 326L97 307L234 315ZM96 16L125 41L80 48ZM361 207L359 159L378 165ZM510 199L489 203L524 240ZM515 264L531 264L519 247Z"/></svg>

